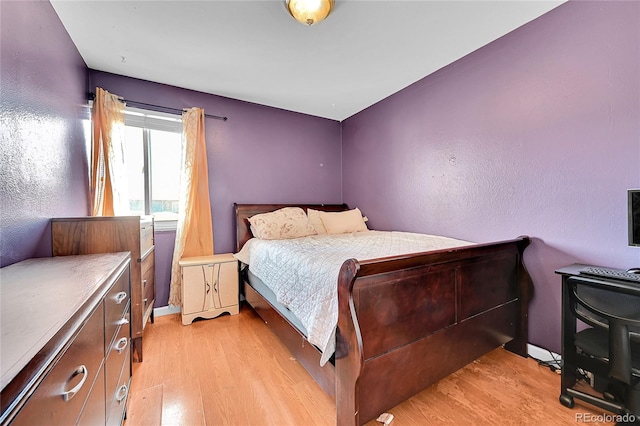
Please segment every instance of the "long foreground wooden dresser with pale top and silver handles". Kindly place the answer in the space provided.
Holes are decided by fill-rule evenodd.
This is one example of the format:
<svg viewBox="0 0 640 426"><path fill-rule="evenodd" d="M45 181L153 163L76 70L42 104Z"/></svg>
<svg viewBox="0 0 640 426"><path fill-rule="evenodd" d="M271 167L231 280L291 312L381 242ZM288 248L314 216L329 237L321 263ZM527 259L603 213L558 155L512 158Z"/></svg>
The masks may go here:
<svg viewBox="0 0 640 426"><path fill-rule="evenodd" d="M0 269L0 424L121 425L131 384L130 254Z"/></svg>

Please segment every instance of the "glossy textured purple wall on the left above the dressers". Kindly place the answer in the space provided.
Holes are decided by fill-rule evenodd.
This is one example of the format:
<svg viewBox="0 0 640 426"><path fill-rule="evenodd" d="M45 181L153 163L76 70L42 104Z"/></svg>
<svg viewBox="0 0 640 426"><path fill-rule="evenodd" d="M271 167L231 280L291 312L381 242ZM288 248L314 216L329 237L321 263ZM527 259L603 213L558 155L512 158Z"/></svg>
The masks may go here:
<svg viewBox="0 0 640 426"><path fill-rule="evenodd" d="M88 71L49 2L0 2L0 266L51 256L49 218L88 213Z"/></svg>

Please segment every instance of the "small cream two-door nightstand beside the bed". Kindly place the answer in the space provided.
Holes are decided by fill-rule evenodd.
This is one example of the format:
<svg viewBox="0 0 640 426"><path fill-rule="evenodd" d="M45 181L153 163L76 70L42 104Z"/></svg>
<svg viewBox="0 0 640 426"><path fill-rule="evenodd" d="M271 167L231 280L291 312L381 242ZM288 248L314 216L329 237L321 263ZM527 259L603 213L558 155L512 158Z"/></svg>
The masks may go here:
<svg viewBox="0 0 640 426"><path fill-rule="evenodd" d="M231 253L183 257L182 324L238 313L238 261Z"/></svg>

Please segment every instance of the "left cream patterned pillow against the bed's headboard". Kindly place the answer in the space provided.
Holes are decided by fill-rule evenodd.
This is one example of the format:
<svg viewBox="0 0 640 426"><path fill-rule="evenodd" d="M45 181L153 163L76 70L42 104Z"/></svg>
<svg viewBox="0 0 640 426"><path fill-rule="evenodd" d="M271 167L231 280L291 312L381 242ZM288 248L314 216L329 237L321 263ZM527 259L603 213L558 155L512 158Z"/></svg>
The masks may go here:
<svg viewBox="0 0 640 426"><path fill-rule="evenodd" d="M315 235L316 231L300 207L261 213L249 218L251 232L262 240L285 240Z"/></svg>

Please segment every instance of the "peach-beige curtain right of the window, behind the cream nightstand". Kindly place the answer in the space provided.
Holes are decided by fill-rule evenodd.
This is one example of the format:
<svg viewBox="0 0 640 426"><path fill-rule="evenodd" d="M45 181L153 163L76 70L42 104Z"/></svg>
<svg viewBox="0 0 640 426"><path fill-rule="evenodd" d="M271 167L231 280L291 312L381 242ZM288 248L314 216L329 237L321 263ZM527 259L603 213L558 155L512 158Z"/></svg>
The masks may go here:
<svg viewBox="0 0 640 426"><path fill-rule="evenodd" d="M213 254L204 110L186 110L182 114L182 127L180 206L169 292L169 304L173 306L182 306L180 258Z"/></svg>

